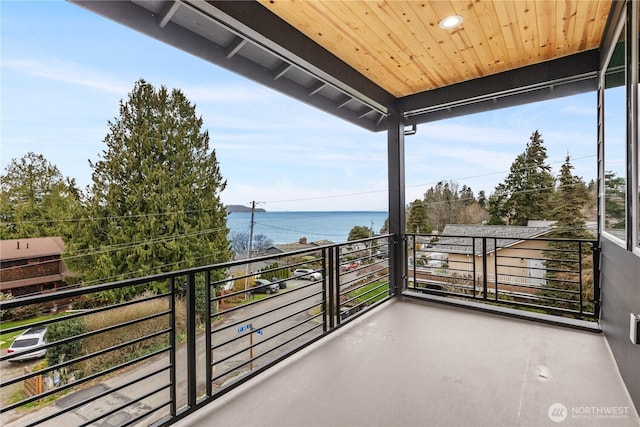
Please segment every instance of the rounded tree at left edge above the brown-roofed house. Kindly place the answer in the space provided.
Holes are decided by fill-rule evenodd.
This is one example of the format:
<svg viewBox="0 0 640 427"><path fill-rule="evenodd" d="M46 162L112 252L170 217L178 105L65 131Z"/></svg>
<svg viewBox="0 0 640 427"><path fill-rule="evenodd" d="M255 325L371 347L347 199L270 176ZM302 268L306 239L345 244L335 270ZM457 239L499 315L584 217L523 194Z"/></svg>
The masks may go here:
<svg viewBox="0 0 640 427"><path fill-rule="evenodd" d="M27 153L12 159L0 177L1 239L75 234L82 195L75 181L64 178L43 155Z"/></svg>

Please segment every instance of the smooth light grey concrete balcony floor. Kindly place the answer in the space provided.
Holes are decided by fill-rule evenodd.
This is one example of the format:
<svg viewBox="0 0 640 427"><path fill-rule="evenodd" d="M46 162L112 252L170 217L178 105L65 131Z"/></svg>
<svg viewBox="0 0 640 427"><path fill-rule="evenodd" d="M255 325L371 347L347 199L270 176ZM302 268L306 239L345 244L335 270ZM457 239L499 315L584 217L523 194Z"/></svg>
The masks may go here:
<svg viewBox="0 0 640 427"><path fill-rule="evenodd" d="M622 427L640 418L601 334L394 301L177 425Z"/></svg>

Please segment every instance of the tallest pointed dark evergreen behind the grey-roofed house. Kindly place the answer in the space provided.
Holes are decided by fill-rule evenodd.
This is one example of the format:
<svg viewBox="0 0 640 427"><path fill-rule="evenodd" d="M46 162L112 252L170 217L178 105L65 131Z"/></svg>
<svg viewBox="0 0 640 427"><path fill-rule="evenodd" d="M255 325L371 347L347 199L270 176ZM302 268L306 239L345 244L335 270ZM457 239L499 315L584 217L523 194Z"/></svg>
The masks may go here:
<svg viewBox="0 0 640 427"><path fill-rule="evenodd" d="M547 149L540 133L533 132L522 154L511 164L509 175L490 199L491 220L506 219L509 225L527 225L530 219L544 219L551 211L554 179L546 163ZM496 205L497 204L497 205Z"/></svg>

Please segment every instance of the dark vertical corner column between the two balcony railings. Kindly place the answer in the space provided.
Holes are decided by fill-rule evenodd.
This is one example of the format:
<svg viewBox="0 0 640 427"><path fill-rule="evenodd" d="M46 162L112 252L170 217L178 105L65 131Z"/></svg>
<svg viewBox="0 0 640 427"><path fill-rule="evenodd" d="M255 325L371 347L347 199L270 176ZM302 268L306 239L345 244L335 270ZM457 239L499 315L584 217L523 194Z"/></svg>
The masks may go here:
<svg viewBox="0 0 640 427"><path fill-rule="evenodd" d="M389 251L390 288L396 296L406 287L405 200L404 200L404 118L392 113L387 130L387 169L389 174L389 233L393 244Z"/></svg>

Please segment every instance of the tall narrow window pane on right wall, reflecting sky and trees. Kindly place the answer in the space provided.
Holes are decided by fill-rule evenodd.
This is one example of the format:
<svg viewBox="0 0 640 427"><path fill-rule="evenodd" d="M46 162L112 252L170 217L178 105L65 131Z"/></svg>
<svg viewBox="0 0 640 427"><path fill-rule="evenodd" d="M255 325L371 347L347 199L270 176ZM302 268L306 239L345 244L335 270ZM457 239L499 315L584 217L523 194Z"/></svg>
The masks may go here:
<svg viewBox="0 0 640 427"><path fill-rule="evenodd" d="M605 74L604 92L604 231L626 240L626 73L625 30Z"/></svg>

